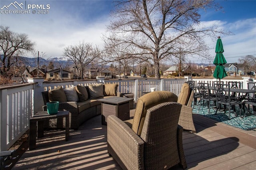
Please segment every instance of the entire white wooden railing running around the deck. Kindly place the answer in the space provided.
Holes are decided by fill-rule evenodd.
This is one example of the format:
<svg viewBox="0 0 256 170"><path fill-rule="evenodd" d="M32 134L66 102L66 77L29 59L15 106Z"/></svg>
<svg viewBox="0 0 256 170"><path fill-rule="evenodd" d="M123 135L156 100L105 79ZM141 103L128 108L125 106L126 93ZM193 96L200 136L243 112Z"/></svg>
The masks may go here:
<svg viewBox="0 0 256 170"><path fill-rule="evenodd" d="M250 77L244 77L243 88L247 88L246 83ZM150 92L150 88L155 87L156 91L171 91L176 95L180 94L182 84L186 79L93 79L78 81L44 81L43 78L29 78L23 85L15 85L0 88L0 151L8 150L26 130L29 128L29 119L38 111L42 111L44 105L42 91L48 91L58 86L64 88L74 85L87 86L96 83L117 83L118 91L122 93L134 93L134 101ZM208 82L212 84L216 79L193 79L197 82Z"/></svg>

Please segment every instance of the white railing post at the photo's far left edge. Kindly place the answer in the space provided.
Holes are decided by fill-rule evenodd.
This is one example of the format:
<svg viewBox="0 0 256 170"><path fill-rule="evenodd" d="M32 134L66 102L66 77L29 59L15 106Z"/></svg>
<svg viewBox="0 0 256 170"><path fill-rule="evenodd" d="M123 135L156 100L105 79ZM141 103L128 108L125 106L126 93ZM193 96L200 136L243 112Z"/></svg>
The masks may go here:
<svg viewBox="0 0 256 170"><path fill-rule="evenodd" d="M6 151L7 150L7 89L0 91L0 151Z"/></svg>

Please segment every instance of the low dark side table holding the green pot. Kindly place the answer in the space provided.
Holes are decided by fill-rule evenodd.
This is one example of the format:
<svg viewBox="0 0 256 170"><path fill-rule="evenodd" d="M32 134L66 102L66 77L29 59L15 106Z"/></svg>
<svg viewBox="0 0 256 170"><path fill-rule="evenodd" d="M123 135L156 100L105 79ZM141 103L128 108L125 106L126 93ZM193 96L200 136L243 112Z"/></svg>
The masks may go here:
<svg viewBox="0 0 256 170"><path fill-rule="evenodd" d="M69 136L69 111L58 111L56 115L49 115L47 111L38 112L29 120L29 149L36 148L36 122L38 122L37 137L44 137L44 121L56 118L66 118L66 136L68 141Z"/></svg>

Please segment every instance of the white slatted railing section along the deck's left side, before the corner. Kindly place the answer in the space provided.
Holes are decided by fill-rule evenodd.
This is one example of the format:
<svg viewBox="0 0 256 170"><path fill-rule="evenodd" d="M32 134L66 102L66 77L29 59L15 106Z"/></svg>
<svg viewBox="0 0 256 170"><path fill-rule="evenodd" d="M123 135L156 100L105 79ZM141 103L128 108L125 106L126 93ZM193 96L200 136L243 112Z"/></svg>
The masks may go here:
<svg viewBox="0 0 256 170"><path fill-rule="evenodd" d="M29 128L34 85L26 84L0 90L0 151L7 150Z"/></svg>

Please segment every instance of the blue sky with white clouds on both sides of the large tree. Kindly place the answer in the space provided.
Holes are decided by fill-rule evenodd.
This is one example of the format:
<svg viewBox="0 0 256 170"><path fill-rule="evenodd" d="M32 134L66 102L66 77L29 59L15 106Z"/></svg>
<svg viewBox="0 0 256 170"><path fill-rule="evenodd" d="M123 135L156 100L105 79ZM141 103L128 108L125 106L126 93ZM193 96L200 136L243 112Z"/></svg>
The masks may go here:
<svg viewBox="0 0 256 170"><path fill-rule="evenodd" d="M0 8L15 0L1 0ZM10 30L28 34L36 43L36 50L48 57L61 57L64 47L80 41L103 46L102 33L109 24L109 12L113 8L110 0L16 0L26 5L50 5L48 14L0 14L0 24ZM202 12L201 24L218 24L219 28L234 35L221 36L224 56L228 63L237 62L245 55L256 55L256 0L219 0L224 13L208 10ZM14 9L10 6L8 10ZM3 9L6 10L6 9ZM36 10L36 13L38 11ZM39 11L41 12L41 11ZM43 11L42 11L43 12ZM216 40L206 39L212 61L191 58L193 63L212 63ZM28 54L28 56L31 56Z"/></svg>

